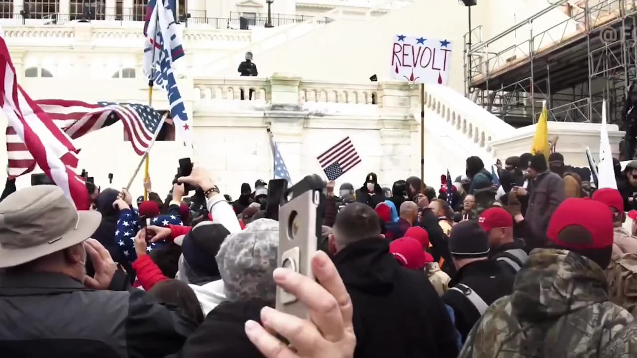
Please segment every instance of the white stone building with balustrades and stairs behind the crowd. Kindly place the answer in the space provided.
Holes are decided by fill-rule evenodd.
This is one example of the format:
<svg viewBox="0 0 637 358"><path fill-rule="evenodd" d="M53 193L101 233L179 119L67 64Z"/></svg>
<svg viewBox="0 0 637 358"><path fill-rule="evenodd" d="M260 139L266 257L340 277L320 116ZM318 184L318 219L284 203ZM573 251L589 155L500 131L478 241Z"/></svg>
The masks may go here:
<svg viewBox="0 0 637 358"><path fill-rule="evenodd" d="M0 23L18 83L35 99L147 103L141 50L144 3L0 0ZM483 0L473 10L473 24L482 25L480 36L486 39L545 6L540 3ZM94 9L92 20L80 22L86 4ZM420 175L419 86L388 80L390 43L397 32L447 38L458 49L450 88L425 89L427 183L437 187L447 169L454 177L461 175L469 155L490 164L530 148L533 127L515 129L461 94L462 45L468 31L462 4L276 0L273 28L259 20L265 12L261 0L178 0L178 13L190 14L180 24L186 55L177 73L194 121L194 157L224 192L236 196L242 182L252 185L257 178L272 177L268 128L293 181L321 173L317 155L345 136L352 138L362 162L337 184L362 185L369 171L389 185ZM283 21L283 14L292 20ZM255 21L239 29L238 17ZM248 50L254 53L259 76L240 78L236 67ZM379 82L369 82L374 74ZM241 101L241 90L247 94L250 89L255 97ZM166 95L155 90L153 106L166 110ZM594 152L599 147L598 125L552 122L549 127L561 137L559 149L572 164L585 164L586 145ZM622 134L616 126L610 133L616 150ZM121 124L77 143L82 147L80 169L87 169L102 187L125 185L140 160L126 143ZM178 159L187 155L178 141L155 144L150 160L155 189L162 194L168 190ZM0 148L0 160L5 156ZM114 174L113 183L108 173ZM143 190L141 176L132 187L134 195ZM18 185L29 185L29 178L20 178Z"/></svg>

